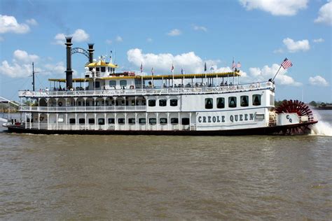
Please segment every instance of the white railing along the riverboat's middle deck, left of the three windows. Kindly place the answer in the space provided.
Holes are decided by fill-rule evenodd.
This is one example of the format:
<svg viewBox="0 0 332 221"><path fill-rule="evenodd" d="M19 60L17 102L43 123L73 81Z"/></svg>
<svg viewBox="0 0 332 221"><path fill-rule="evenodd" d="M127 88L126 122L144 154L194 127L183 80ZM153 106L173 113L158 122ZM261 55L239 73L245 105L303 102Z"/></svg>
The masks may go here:
<svg viewBox="0 0 332 221"><path fill-rule="evenodd" d="M145 111L146 106L20 106L20 111L36 112L117 112L117 111Z"/></svg>

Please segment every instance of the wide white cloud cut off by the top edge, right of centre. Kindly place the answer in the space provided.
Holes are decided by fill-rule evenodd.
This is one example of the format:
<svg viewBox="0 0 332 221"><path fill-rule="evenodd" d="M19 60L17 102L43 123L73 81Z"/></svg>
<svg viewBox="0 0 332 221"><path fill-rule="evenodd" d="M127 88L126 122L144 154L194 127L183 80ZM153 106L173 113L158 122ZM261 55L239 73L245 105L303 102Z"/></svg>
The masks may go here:
<svg viewBox="0 0 332 221"><path fill-rule="evenodd" d="M264 10L272 15L296 15L307 8L308 0L239 0L247 10Z"/></svg>

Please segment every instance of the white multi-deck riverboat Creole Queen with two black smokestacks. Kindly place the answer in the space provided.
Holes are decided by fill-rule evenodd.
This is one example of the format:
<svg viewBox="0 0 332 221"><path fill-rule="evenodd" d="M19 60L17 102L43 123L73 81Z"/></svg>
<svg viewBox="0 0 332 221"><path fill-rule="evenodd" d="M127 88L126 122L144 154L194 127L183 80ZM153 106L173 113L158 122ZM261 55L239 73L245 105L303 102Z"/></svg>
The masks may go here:
<svg viewBox="0 0 332 221"><path fill-rule="evenodd" d="M66 79L50 90L24 90L20 120L8 131L32 134L249 135L303 134L317 123L301 101L275 108L275 83L240 83L240 71L146 75L122 71L104 57L71 48ZM88 57L84 78L72 78L71 55ZM74 85L73 85L74 82ZM66 87L61 88L61 83ZM79 84L79 86L78 86ZM59 87L60 85L60 87ZM83 85L83 86L82 86ZM74 87L73 87L74 86ZM27 104L27 105L23 105Z"/></svg>

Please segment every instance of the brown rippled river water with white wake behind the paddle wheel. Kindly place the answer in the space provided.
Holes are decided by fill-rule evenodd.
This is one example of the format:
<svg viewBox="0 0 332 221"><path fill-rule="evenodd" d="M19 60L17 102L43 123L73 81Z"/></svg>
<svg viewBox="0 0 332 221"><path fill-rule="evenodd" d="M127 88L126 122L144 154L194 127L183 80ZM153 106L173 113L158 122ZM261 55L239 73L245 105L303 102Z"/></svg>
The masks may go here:
<svg viewBox="0 0 332 221"><path fill-rule="evenodd" d="M310 136L32 135L0 126L0 220L332 220L332 111L319 115Z"/></svg>

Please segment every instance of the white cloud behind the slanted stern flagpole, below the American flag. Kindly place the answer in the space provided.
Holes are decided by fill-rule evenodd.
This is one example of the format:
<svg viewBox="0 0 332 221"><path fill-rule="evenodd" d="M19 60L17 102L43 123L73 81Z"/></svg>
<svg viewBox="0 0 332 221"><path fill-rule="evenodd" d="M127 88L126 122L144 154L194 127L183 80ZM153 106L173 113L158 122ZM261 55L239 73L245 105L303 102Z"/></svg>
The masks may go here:
<svg viewBox="0 0 332 221"><path fill-rule="evenodd" d="M252 81L266 81L269 78L273 78L275 73L277 73L280 65L279 64L272 64L272 66L265 65L263 68L258 67L251 67L249 68L250 76L249 78ZM293 78L286 75L286 70L280 69L277 77L275 78L276 82L281 85L293 85L293 86L300 86L301 83L296 82Z"/></svg>

